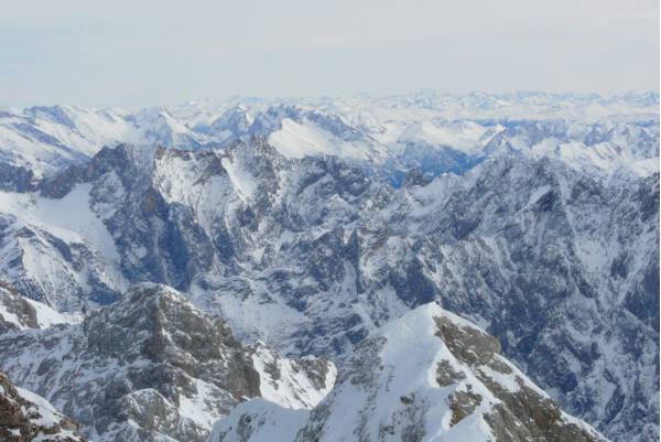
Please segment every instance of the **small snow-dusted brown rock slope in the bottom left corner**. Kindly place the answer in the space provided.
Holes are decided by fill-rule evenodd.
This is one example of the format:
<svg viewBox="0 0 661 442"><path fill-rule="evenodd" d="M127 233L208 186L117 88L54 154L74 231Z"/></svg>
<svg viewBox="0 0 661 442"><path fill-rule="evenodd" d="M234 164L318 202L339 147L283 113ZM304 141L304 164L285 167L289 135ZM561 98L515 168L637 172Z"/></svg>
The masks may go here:
<svg viewBox="0 0 661 442"><path fill-rule="evenodd" d="M0 440L6 442L85 442L78 424L44 398L17 388L0 371Z"/></svg>

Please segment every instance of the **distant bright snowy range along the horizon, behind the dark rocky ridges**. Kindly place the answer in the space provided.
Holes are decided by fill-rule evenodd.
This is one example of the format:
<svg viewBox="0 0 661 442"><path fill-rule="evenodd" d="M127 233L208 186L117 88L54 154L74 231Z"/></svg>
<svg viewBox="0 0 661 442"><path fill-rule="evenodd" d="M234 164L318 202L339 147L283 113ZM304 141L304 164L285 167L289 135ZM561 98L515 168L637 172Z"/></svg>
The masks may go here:
<svg viewBox="0 0 661 442"><path fill-rule="evenodd" d="M84 163L106 144L201 149L252 136L268 138L285 157L388 162L392 174L412 165L464 172L489 154L489 141L501 133L499 142L512 138L516 149L527 147L533 154L570 157L570 162L579 160L577 165L602 172L625 168L646 173L658 170L646 161L658 157L658 107L653 93L424 91L377 98L237 97L136 110L8 108L0 110L0 188L32 190L42 177Z"/></svg>

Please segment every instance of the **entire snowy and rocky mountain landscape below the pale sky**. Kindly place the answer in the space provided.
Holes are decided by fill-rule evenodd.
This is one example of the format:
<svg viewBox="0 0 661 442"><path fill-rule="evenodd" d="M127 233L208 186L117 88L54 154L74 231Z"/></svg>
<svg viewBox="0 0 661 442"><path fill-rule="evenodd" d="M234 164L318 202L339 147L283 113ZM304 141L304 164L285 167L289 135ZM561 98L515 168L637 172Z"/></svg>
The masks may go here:
<svg viewBox="0 0 661 442"><path fill-rule="evenodd" d="M3 108L0 279L17 441L655 442L659 95Z"/></svg>

